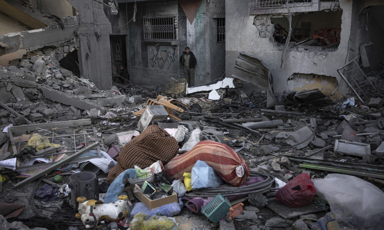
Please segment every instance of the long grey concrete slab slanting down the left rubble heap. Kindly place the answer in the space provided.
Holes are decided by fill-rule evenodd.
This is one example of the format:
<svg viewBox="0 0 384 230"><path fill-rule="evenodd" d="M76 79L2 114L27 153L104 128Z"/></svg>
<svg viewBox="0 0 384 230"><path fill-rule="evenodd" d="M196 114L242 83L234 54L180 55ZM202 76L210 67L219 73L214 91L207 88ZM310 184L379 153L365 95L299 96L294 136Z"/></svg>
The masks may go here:
<svg viewBox="0 0 384 230"><path fill-rule="evenodd" d="M46 99L60 102L65 105L72 105L73 107L82 109L82 110L91 110L92 108L96 108L100 110L102 113L105 113L105 109L98 104L94 104L89 100L81 100L78 98L74 98L69 96L68 94L62 93L58 90L51 89L42 85L39 85L38 88L43 92L43 95Z"/></svg>

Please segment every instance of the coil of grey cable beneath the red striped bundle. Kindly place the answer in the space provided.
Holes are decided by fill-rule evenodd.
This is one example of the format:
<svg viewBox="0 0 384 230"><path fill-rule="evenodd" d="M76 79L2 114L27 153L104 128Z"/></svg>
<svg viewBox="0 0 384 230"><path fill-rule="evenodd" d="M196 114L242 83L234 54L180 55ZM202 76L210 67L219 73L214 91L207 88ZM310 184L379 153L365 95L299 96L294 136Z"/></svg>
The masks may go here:
<svg viewBox="0 0 384 230"><path fill-rule="evenodd" d="M215 197L218 194L225 195L248 195L251 193L263 192L267 189L275 190L271 188L272 183L275 181L275 177L270 174L250 172L249 176L262 177L264 180L255 184L243 186L243 187L218 187L218 188L207 188L204 190L194 191L194 194L185 195L187 197Z"/></svg>

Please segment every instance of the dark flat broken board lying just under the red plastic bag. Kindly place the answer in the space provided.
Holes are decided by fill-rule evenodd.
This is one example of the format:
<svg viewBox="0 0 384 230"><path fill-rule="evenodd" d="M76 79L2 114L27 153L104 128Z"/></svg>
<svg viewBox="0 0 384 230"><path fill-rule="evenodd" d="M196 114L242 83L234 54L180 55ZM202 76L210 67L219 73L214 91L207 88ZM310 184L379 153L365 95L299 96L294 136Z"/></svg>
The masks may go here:
<svg viewBox="0 0 384 230"><path fill-rule="evenodd" d="M291 208L277 200L269 200L266 207L285 219L323 211L322 207L319 207L314 203L308 204L303 207Z"/></svg>

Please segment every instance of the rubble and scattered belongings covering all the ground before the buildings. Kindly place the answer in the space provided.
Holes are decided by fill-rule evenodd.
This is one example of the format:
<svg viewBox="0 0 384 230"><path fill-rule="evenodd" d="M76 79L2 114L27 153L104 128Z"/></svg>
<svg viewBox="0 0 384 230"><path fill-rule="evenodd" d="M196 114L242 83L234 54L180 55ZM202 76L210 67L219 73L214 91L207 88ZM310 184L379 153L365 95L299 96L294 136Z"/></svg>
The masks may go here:
<svg viewBox="0 0 384 230"><path fill-rule="evenodd" d="M99 90L61 67L54 50L28 53L0 76L4 229L44 229L33 218L55 222L46 229L195 230L369 229L384 219L377 95L364 105L351 97L267 109L265 92L238 88L220 100L130 83ZM352 183L367 189L344 194L361 212L337 209L352 205L334 199Z"/></svg>

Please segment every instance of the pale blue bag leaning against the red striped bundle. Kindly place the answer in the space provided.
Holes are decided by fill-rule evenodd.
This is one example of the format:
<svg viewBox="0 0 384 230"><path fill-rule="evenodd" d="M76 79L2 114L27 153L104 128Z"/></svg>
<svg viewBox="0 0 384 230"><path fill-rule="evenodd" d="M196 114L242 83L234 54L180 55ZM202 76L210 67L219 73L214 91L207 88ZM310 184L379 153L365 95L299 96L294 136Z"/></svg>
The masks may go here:
<svg viewBox="0 0 384 230"><path fill-rule="evenodd" d="M198 160L191 172L192 190L202 188L217 188L223 184L223 180L215 170L204 161Z"/></svg>

